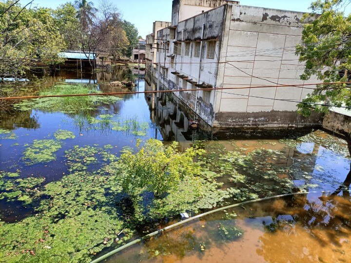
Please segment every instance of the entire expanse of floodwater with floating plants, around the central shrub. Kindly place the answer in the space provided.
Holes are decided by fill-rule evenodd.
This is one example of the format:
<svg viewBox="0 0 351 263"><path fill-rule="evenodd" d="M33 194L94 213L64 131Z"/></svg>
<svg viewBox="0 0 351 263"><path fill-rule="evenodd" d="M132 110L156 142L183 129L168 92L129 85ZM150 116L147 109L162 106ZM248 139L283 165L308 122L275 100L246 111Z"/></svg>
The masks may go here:
<svg viewBox="0 0 351 263"><path fill-rule="evenodd" d="M135 81L133 91L149 91L154 85L128 68L97 74L36 70L28 78L34 88L20 88L18 94L47 94L55 87L71 92L65 90L67 83L90 84L95 92L104 93L128 91L108 85L116 80ZM31 236L32 232L41 227L46 234L54 226L59 231L62 226L58 224L69 225L67 233L76 231L69 228L72 218L83 222L75 238L59 232L52 237L72 243L75 252L67 252L67 258L78 255L78 261L87 262L160 225L178 221L178 212L169 205L170 212L163 218L151 218L133 225L134 229L126 220L125 208L119 207L122 194L111 164L125 149L137 149L136 145L154 138L165 144L177 141L180 150L196 146L206 151L198 161L208 171L203 182L211 184L201 200L189 201L190 215L283 193L331 190L335 196L321 201L318 194L297 195L217 213L131 247L110 262L351 262L350 195L337 196L351 183L351 160L342 138L318 130L237 133L222 139L208 132L203 123L200 130L192 131L189 120L196 116L170 96L161 95L156 102L149 94L92 99L84 100L85 104L74 99L58 100L58 104L17 101L20 107L5 105L0 113L0 231L9 237L8 243L1 244L8 245L9 251L15 251L11 244L23 233L33 242L22 243L19 251L40 254L45 247L55 247L51 239L47 240L52 244L39 246L38 240L46 239L41 234ZM143 206L150 209L153 196L145 193L144 197ZM157 209L156 215L164 212L163 207ZM78 219L87 211L96 214ZM98 223L89 223L91 218ZM23 224L29 226L16 228ZM100 232L95 236L86 233L91 241L78 240L82 243L78 249L75 242L81 233L97 224ZM124 238L113 243L121 230ZM11 253L8 256L18 257L23 252ZM46 252L43 255L47 258Z"/></svg>

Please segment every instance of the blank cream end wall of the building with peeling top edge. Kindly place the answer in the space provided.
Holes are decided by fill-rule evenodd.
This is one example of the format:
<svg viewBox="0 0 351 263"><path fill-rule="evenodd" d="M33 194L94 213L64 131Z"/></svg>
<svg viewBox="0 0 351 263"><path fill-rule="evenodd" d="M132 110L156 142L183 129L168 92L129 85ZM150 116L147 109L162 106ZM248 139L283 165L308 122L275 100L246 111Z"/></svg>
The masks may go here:
<svg viewBox="0 0 351 263"><path fill-rule="evenodd" d="M295 114L295 101L301 101L311 92L296 84L318 82L315 78L300 80L304 64L295 56L295 45L301 40L303 13L229 6L230 19L227 18L225 25L220 60L225 66L219 69L216 86L238 89L217 95L215 126L229 125L223 122L228 118L221 117L228 115L232 115L233 124L259 123L260 119L267 126L317 121L303 120ZM250 88L254 86L273 87Z"/></svg>

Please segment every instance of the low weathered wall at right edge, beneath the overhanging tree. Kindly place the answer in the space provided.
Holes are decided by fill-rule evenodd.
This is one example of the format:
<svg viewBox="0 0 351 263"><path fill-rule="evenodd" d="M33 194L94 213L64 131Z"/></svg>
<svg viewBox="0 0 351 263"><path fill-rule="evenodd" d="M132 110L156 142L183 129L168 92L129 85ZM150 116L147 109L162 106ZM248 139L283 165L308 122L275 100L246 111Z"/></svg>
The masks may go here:
<svg viewBox="0 0 351 263"><path fill-rule="evenodd" d="M340 130L351 133L351 116L330 111L324 116L323 128L335 133Z"/></svg>

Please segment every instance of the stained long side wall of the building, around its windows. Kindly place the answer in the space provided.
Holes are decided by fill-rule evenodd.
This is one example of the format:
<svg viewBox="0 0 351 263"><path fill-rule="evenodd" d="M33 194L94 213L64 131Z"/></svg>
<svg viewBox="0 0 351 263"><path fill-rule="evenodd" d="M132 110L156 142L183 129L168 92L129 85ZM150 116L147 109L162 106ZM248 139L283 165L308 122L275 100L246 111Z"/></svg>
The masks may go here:
<svg viewBox="0 0 351 263"><path fill-rule="evenodd" d="M191 83L186 82L185 79L179 79L172 72L177 72L180 75L186 75L188 79L192 79L195 83L207 83L215 86L218 72L218 61L220 53L220 39L223 36L224 22L227 5L222 5L216 9L201 13L193 18L179 22L176 29L165 28L157 32L157 43L161 48L156 55L156 61L159 62L163 68L167 68L168 75L164 75L161 71L161 82L169 89L195 89L196 87ZM201 39L202 25L204 27L204 37ZM174 38L171 31L174 30ZM162 40L161 40L162 39ZM195 43L202 41L202 55L195 56ZM207 50L209 42L206 40L215 41L214 58L207 57ZM177 55L175 52L175 42L181 45L181 54ZM185 45L189 43L189 54L185 55ZM169 44L169 50L163 50ZM184 88L185 87L185 88ZM215 117L215 92L210 94L209 101L204 102L203 91L197 93L191 92L175 92L175 95L180 98L191 110L195 111L202 119L212 125Z"/></svg>

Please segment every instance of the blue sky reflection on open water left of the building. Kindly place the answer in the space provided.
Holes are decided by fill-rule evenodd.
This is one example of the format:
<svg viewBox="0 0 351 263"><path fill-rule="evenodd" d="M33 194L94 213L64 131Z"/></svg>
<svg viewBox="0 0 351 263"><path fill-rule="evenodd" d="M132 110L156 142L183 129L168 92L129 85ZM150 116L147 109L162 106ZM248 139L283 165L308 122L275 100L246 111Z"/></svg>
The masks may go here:
<svg viewBox="0 0 351 263"><path fill-rule="evenodd" d="M137 87L139 91L144 91L144 80L140 79L137 83L139 84ZM151 123L149 107L143 94L129 95L128 97L124 97L124 100L101 106L93 115L98 116L99 114L111 114L114 116L114 119L120 118L121 120L135 117L139 122ZM125 146L134 148L137 138L144 141L157 137L162 140L161 133L158 129L152 127L152 125L149 125L150 128L146 131L146 136L135 136L124 131L113 130L79 131L77 124L73 120L74 115L65 113L44 113L32 110L30 115L38 121L39 128L17 128L14 132L18 138L15 140L1 139L6 137L7 134L0 135L0 144L2 145L0 149L0 170L15 172L17 169L20 169L21 177L44 176L47 178L47 183L58 180L62 177L63 173L68 172L65 165L65 150L72 149L75 145L83 147L98 144L99 147L102 147L111 144L114 148L110 151L119 155L120 150ZM76 138L67 139L62 142L62 148L55 153L57 160L45 164L24 165L21 159L23 151L26 149L24 145L32 144L36 139L55 139L54 132L59 129L73 131ZM19 145L13 146L15 143Z"/></svg>

